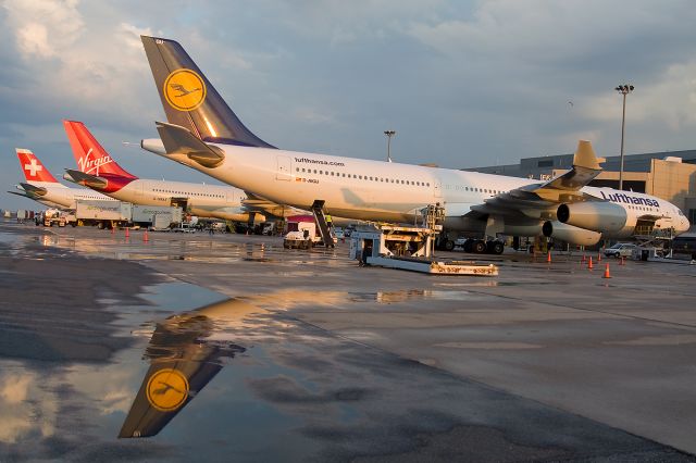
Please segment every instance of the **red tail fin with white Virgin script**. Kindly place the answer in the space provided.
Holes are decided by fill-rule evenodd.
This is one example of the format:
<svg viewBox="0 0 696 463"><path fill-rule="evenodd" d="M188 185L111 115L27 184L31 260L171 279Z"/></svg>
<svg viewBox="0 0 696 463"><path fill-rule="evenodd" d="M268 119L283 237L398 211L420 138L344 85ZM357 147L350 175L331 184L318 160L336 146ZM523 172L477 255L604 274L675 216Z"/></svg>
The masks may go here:
<svg viewBox="0 0 696 463"><path fill-rule="evenodd" d="M99 145L85 124L77 121L63 121L73 155L80 172L91 175L116 175L126 178L137 178L126 172Z"/></svg>

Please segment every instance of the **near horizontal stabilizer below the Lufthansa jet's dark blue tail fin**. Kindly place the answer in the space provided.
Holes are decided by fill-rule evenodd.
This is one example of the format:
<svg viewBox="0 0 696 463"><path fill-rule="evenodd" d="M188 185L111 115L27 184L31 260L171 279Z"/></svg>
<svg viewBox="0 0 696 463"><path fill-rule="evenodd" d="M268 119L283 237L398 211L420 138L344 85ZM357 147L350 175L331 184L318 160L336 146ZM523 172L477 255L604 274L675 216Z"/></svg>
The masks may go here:
<svg viewBox="0 0 696 463"><path fill-rule="evenodd" d="M203 142L181 125L158 122L157 132L167 154L184 154L209 168L219 166L225 159L222 150Z"/></svg>

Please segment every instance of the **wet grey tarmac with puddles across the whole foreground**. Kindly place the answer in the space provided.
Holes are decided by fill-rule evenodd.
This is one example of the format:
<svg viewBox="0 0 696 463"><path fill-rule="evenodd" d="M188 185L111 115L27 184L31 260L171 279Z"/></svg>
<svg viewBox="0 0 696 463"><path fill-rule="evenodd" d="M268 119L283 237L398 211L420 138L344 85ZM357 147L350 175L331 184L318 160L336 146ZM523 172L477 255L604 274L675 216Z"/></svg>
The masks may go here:
<svg viewBox="0 0 696 463"><path fill-rule="evenodd" d="M696 266L142 238L0 222L0 461L696 461Z"/></svg>

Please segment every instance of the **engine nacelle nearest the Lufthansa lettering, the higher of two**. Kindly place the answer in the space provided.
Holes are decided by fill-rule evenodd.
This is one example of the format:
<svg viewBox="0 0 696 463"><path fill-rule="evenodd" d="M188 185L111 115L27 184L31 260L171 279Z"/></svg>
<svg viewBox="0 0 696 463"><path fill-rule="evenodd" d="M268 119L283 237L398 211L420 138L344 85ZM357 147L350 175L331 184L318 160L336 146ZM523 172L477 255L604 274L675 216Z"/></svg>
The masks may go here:
<svg viewBox="0 0 696 463"><path fill-rule="evenodd" d="M561 204L556 216L559 222L594 232L618 232L624 227L626 210L613 202L586 201Z"/></svg>

